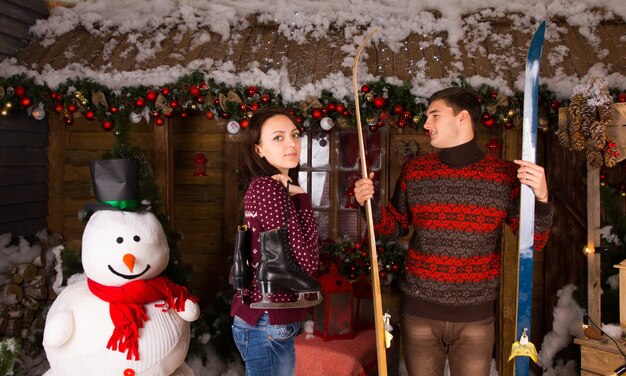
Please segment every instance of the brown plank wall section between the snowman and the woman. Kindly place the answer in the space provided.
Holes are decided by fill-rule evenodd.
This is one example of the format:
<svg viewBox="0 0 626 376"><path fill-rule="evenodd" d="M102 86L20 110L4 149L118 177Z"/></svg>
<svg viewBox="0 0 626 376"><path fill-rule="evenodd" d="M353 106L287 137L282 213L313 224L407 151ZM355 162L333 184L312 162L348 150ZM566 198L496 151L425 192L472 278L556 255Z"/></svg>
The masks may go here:
<svg viewBox="0 0 626 376"><path fill-rule="evenodd" d="M183 235L178 249L183 262L193 266L190 287L203 302L209 302L218 291L228 288L228 256L232 248L224 247L234 236L234 228L225 228L225 196L236 187L224 186L225 171L237 168L236 161L226 160L223 126L204 115L173 119L174 154L172 228ZM194 176L194 159L203 153L207 159L207 176ZM230 210L230 209L229 209ZM228 238L224 241L224 238Z"/></svg>

